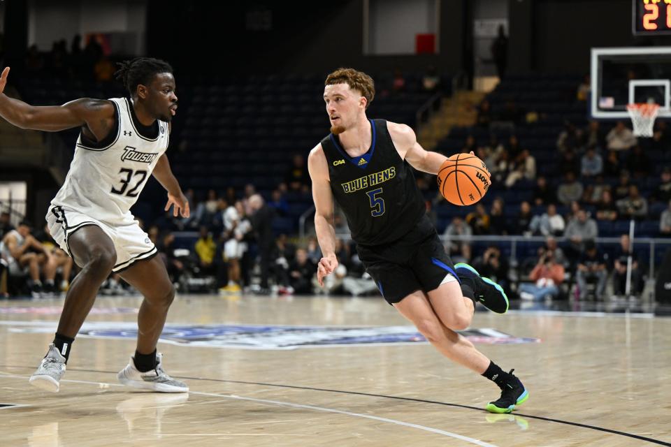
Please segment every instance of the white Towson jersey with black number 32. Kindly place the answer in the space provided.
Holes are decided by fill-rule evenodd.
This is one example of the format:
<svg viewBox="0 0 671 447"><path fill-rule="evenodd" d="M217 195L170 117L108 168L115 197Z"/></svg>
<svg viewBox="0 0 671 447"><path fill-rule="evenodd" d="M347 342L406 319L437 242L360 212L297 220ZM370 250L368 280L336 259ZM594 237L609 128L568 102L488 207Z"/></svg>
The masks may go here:
<svg viewBox="0 0 671 447"><path fill-rule="evenodd" d="M51 204L115 225L134 220L130 208L166 152L170 135L168 123L162 121L156 138L140 135L131 115L131 101L110 101L117 110L116 132L99 143L80 132L68 175Z"/></svg>

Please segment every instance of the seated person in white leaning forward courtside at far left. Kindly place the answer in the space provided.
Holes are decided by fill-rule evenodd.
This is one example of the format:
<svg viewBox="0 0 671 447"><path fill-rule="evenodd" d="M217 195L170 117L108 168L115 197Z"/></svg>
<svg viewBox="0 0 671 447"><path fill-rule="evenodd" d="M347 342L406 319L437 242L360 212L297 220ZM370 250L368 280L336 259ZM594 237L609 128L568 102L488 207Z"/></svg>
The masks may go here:
<svg viewBox="0 0 671 447"><path fill-rule="evenodd" d="M28 286L34 298L38 298L43 293L56 292L54 279L59 265L51 252L31 235L31 228L28 221L22 221L15 230L4 235L0 242L0 258L8 266L10 277L29 275Z"/></svg>

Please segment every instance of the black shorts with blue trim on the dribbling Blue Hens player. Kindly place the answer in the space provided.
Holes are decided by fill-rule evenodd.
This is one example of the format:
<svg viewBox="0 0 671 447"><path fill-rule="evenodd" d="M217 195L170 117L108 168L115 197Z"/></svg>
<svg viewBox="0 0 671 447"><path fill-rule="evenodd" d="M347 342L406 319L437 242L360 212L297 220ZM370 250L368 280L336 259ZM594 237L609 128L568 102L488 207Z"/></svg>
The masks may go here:
<svg viewBox="0 0 671 447"><path fill-rule="evenodd" d="M426 216L401 239L375 247L357 245L356 251L390 305L414 291L435 290L447 274L459 281L452 260Z"/></svg>

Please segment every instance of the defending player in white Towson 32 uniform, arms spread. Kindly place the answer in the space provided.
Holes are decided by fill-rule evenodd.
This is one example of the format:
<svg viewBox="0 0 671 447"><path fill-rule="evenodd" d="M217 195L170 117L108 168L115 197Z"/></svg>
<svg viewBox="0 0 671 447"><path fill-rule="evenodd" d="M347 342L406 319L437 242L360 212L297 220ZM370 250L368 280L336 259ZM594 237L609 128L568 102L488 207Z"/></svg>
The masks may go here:
<svg viewBox="0 0 671 447"><path fill-rule="evenodd" d="M130 212L153 175L168 191L166 210L189 216L189 203L165 152L177 110L173 69L164 61L137 58L117 72L129 98L81 98L35 107L2 94L9 67L0 76L0 116L22 129L80 135L68 175L47 213L52 237L81 272L66 295L54 342L30 383L57 392L75 335L89 314L102 282L117 272L144 295L138 313L134 356L118 374L124 385L164 393L187 392L163 369L156 346L175 289L166 267Z"/></svg>

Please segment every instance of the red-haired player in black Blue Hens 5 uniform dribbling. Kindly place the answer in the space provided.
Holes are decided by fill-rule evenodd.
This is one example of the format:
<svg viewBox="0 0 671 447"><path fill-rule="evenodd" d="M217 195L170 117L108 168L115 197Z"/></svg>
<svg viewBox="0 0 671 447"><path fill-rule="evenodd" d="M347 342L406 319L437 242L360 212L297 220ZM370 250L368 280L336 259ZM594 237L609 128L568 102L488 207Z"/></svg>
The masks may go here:
<svg viewBox="0 0 671 447"><path fill-rule="evenodd" d="M427 152L404 124L368 119L375 86L366 73L340 68L325 82L331 134L308 157L315 200L315 228L324 257L317 279L338 266L333 202L345 212L366 270L385 300L412 321L443 356L482 374L501 388L489 402L493 413L510 413L528 398L521 381L504 372L456 330L470 325L477 301L503 314L503 288L468 264L453 265L425 214L410 166L436 174L447 159Z"/></svg>

